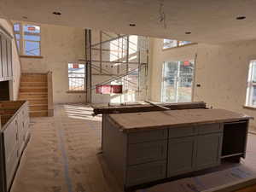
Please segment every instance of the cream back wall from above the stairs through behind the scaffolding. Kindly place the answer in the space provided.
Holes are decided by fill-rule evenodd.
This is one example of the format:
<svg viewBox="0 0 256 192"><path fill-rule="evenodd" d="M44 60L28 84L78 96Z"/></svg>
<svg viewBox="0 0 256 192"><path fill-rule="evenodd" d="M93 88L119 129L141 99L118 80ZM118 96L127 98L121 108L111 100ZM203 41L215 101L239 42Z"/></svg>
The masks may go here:
<svg viewBox="0 0 256 192"><path fill-rule="evenodd" d="M24 73L46 73L49 70L53 72L53 90L55 103L67 102L85 102L85 93L71 93L68 90L67 78L67 64L68 63L83 63L85 55L85 37L83 28L54 26L54 25L40 25L41 26L41 55L42 58L28 58L21 57L21 68ZM100 42L99 31L92 30L92 44ZM114 34L110 33L111 36ZM116 35L116 34L115 34ZM108 37L111 38L111 37ZM104 39L102 39L104 40ZM110 45L108 44L108 47ZM96 46L95 49L99 49ZM109 49L109 48L108 48ZM108 61L110 54L105 52L102 60ZM113 53L112 53L113 54ZM105 58L106 57L106 58ZM93 60L99 60L99 51L93 51ZM96 65L96 63L93 63ZM103 65L103 64L102 64ZM124 102L123 99L114 99L116 95L96 94L96 84L101 84L109 79L113 79L118 74L112 73L112 65L104 63L103 67L105 73L109 71L108 75L102 73L96 74L92 70L92 103L108 103L108 102ZM142 79L140 79L142 81ZM120 94L122 97L125 94ZM127 95L127 94L126 94ZM142 95L142 94L141 94Z"/></svg>

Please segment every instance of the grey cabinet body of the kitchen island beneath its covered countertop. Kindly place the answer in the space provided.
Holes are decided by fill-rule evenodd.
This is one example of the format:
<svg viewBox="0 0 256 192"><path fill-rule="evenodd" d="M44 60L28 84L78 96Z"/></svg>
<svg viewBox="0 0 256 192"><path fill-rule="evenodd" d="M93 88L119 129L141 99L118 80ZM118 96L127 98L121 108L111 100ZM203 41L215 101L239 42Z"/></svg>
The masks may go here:
<svg viewBox="0 0 256 192"><path fill-rule="evenodd" d="M106 119L103 133L103 157L124 189L218 166L222 158L224 123L121 132Z"/></svg>

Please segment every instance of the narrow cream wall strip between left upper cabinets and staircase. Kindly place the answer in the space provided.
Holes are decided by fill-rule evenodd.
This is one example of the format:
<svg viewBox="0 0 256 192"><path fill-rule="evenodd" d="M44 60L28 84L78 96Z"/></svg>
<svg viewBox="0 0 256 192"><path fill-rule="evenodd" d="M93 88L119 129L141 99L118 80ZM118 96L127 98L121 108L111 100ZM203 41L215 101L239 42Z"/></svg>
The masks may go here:
<svg viewBox="0 0 256 192"><path fill-rule="evenodd" d="M0 19L0 26L2 26L6 32L9 32L9 34L14 37L13 26L9 20ZM14 78L9 84L10 99L17 100L20 89L20 58L16 47L15 38L12 39L12 64Z"/></svg>

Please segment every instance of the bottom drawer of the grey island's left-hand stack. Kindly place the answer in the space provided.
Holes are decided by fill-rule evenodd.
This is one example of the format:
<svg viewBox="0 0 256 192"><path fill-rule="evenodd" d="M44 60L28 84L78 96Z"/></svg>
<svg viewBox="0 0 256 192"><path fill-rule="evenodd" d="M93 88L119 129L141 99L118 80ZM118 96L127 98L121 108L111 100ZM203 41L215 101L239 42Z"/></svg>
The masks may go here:
<svg viewBox="0 0 256 192"><path fill-rule="evenodd" d="M129 166L126 186L133 186L163 179L166 177L166 161L156 161L138 166Z"/></svg>

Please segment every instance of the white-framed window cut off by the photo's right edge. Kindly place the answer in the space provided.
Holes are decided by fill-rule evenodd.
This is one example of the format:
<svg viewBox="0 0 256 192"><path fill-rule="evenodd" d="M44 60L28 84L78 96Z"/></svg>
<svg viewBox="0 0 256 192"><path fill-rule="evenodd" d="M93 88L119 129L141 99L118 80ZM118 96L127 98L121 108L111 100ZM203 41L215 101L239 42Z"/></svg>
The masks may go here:
<svg viewBox="0 0 256 192"><path fill-rule="evenodd" d="M256 60L250 61L246 105L256 108Z"/></svg>

